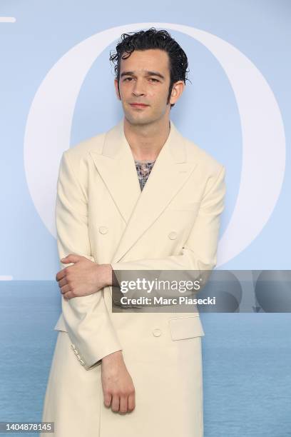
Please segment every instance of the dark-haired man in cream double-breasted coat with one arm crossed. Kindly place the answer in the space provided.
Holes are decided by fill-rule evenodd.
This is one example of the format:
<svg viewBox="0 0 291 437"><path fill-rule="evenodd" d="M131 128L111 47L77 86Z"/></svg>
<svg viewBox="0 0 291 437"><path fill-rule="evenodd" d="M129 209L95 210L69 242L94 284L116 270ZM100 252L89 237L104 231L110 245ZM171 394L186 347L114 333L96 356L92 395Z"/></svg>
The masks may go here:
<svg viewBox="0 0 291 437"><path fill-rule="evenodd" d="M199 313L112 313L112 271L211 270L225 169L170 121L188 61L168 32L123 34L111 60L124 119L66 151L58 176L62 315L43 421L58 437L201 437Z"/></svg>

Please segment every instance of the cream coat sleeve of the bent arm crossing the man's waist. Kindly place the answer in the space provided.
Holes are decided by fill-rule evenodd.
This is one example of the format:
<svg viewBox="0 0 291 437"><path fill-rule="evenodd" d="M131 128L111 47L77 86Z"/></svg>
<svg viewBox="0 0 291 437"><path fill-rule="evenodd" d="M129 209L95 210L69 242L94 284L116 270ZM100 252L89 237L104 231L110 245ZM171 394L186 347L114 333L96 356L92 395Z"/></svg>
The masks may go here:
<svg viewBox="0 0 291 437"><path fill-rule="evenodd" d="M122 273L126 270L192 270L195 271L197 278L202 275L203 282L207 281L208 273L215 267L217 261L220 214L224 209L225 191L225 167L220 166L219 171L208 179L198 216L181 253L165 258L146 258L111 263L118 282L123 277L126 278ZM126 296L134 296L134 291L126 293Z"/></svg>

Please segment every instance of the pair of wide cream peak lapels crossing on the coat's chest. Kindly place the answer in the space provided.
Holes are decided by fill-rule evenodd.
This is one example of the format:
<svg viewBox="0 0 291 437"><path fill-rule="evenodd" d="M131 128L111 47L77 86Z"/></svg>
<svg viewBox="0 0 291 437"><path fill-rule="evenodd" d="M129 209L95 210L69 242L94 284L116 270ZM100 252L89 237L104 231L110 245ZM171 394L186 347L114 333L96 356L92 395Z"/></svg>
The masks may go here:
<svg viewBox="0 0 291 437"><path fill-rule="evenodd" d="M123 120L108 131L102 154L91 152L101 178L126 223L111 262L121 258L163 213L195 169L187 161L185 141L170 121L170 134L141 191L131 147L123 131Z"/></svg>

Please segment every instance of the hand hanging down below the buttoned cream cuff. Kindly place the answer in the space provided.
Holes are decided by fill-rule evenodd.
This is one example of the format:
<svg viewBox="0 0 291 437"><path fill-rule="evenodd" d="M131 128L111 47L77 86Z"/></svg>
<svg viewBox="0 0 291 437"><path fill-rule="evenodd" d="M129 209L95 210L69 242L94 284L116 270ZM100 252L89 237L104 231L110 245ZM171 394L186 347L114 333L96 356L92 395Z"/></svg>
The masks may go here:
<svg viewBox="0 0 291 437"><path fill-rule="evenodd" d="M122 351L113 352L102 358L101 380L104 405L111 410L129 413L136 407L133 380L123 361Z"/></svg>

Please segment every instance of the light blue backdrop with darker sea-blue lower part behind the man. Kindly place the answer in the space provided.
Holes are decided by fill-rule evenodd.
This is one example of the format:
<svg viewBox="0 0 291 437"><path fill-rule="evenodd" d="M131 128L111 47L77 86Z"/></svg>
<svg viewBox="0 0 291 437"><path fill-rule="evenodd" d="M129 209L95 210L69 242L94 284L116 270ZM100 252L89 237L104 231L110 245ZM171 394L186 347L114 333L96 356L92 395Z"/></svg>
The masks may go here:
<svg viewBox="0 0 291 437"><path fill-rule="evenodd" d="M40 420L56 335L51 330L60 311L58 289L51 282L59 269L56 240L39 216L24 166L29 111L48 72L88 37L140 22L200 29L227 41L247 56L265 78L277 102L286 137L286 166L285 173L282 169L278 174L276 158L282 153L282 144L275 136L272 141L275 171L267 175L266 184L272 185L273 180L284 176L282 189L262 231L238 255L224 263L223 268L290 269L290 16L290 1L282 0L186 0L175 4L165 0L146 3L113 0L108 4L89 0L1 1L0 17L15 20L0 19L0 329L4 356L0 364L0 403L3 404L0 421ZM187 83L181 101L172 110L173 121L185 136L209 151L227 169L222 236L231 221L241 183L245 139L238 101L225 70L211 51L180 31L168 30L188 54L192 81ZM113 89L113 67L108 61L115 43L112 41L96 57L83 81L74 107L71 137L63 149L109 129L122 116ZM249 109L251 112L253 108ZM266 129L272 127L272 121L268 120ZM53 126L60 136L62 122L60 118L58 125ZM44 130L40 134L45 139L48 132ZM41 146L40 141L40 149ZM262 150L263 144L260 147ZM48 161L53 159L53 150L53 145L51 151L46 149ZM254 156L255 153L254 149ZM264 167L264 153L260 159ZM254 186L264 183L255 172L249 176ZM48 191L51 189L48 181ZM263 206L269 197L270 193L265 192L265 196L257 199L257 205ZM257 216L257 210L254 215ZM247 228L252 216L245 211L240 220L240 226ZM9 278L12 281L7 281ZM291 436L291 411L286 403L291 388L287 371L290 317L203 315L203 326L208 334L204 342L205 437ZM264 371L267 379L262 378ZM240 383L233 378L239 378ZM261 398L257 384L262 389ZM276 408L270 398L275 396L274 390L279 396ZM255 406L250 408L254 394ZM230 409L226 408L228 402ZM246 425L245 416L252 424Z"/></svg>

